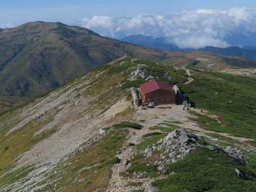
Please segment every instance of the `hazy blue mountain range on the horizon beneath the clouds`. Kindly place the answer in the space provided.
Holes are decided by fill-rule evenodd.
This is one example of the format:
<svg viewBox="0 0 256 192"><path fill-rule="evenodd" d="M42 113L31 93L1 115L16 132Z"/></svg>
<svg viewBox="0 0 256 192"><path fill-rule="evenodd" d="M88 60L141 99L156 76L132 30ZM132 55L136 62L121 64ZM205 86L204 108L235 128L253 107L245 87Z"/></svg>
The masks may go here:
<svg viewBox="0 0 256 192"><path fill-rule="evenodd" d="M206 51L210 53L217 53L220 55L233 55L233 56L256 59L256 48L251 46L247 46L245 48L240 48L237 46L232 46L228 48L218 48L218 47L208 46L208 47L199 48L199 49L178 48L178 46L176 46L175 44L166 43L165 38L154 38L151 36L143 36L143 35L127 36L120 40L128 43L134 43L139 46L157 48L160 50L169 50L169 51L176 51L176 52L183 52L183 53L199 50L199 51ZM236 41L236 39L234 38L232 39L232 41L240 43L240 41Z"/></svg>

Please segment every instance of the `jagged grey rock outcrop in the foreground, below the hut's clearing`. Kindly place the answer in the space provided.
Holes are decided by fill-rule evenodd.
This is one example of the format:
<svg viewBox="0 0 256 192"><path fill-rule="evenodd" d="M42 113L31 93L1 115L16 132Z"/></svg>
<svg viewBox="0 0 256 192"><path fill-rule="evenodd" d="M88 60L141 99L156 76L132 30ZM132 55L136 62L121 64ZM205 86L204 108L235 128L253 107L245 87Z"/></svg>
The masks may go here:
<svg viewBox="0 0 256 192"><path fill-rule="evenodd" d="M156 145L144 149L142 153L145 158L149 158L154 156L154 151L161 151L159 159L154 162L154 164L158 165L159 171L164 171L165 164L175 163L183 159L187 154L191 153L191 151L196 151L196 146L206 147L210 149L210 151L217 153L223 150L227 156L245 165L240 149L233 148L232 146L220 146L218 144L201 145L196 143L197 140L198 137L195 134L188 133L186 129L176 129L163 139L160 139Z"/></svg>

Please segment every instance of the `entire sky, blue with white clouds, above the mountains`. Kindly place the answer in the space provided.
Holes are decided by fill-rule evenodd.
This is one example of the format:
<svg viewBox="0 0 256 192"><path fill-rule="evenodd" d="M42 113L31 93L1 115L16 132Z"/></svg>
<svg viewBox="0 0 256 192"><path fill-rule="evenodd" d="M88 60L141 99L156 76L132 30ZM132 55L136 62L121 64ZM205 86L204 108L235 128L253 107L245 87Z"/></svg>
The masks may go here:
<svg viewBox="0 0 256 192"><path fill-rule="evenodd" d="M112 38L161 36L180 48L225 47L230 34L256 33L256 1L0 0L0 28L31 21L82 26Z"/></svg>

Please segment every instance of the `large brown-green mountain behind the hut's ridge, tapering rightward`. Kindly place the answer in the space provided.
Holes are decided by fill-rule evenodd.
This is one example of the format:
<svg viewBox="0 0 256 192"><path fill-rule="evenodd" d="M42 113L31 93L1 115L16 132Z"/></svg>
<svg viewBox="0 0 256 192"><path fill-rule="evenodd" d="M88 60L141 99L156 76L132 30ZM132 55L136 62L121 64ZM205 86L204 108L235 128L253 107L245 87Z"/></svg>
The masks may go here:
<svg viewBox="0 0 256 192"><path fill-rule="evenodd" d="M144 41L152 41L147 39ZM256 61L245 58L201 51L188 54L159 50L161 46L161 49L171 48L163 48L168 45L162 39L155 47L157 42L151 46L144 44L151 48L137 46L63 23L37 21L6 28L0 31L0 97L42 95L124 55L177 67L199 65L210 70L231 68L231 65L256 67ZM181 51L177 46L172 50Z"/></svg>

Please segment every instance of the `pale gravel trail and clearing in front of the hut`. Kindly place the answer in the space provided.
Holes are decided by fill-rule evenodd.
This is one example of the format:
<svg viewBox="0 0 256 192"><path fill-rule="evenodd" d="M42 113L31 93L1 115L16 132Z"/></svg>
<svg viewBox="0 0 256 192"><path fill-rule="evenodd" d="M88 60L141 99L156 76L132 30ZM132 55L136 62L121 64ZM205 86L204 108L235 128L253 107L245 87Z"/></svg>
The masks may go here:
<svg viewBox="0 0 256 192"><path fill-rule="evenodd" d="M182 124L177 124L180 127L184 127L188 129L191 132L195 132L197 135L206 136L206 133L214 133L213 131L209 131L206 129L202 129L201 127L196 124L196 122L190 121L188 117L194 117L192 114L190 114L188 111L183 110L183 105L168 105L165 107L171 107L167 109L148 109L148 110L137 110L137 113L134 114L134 120L144 120L143 123L140 123L143 125L142 130L134 130L130 129L129 137L127 143L124 144L122 147L122 150L119 151L119 154L117 157L121 159L120 164L115 164L112 167L112 177L110 179L110 186L108 188L108 191L118 191L118 192L127 192L132 191L135 189L138 189L134 186L127 186L129 182L142 182L141 188L144 189L145 192L154 191L154 188L151 186L151 182L154 181L152 178L124 178L120 176L119 174L123 171L127 170L130 166L130 164L125 165L124 161L130 160L133 158L134 154L136 153L136 147L135 146L127 146L129 142L132 142L134 144L139 144L142 142L142 136L149 132L161 132L159 130L151 130L149 127L157 126L158 124L161 124L164 121L179 121L182 122ZM201 113L201 110L198 109L191 109L193 111L196 111L198 113ZM203 114L206 114L206 112L203 112ZM158 125L161 127L164 127L163 124ZM234 137L232 134L226 134L226 133L218 133L222 134L225 137L230 137L232 139L237 139L240 142L249 141L252 139L247 139L243 137ZM155 178L156 179L156 178Z"/></svg>

